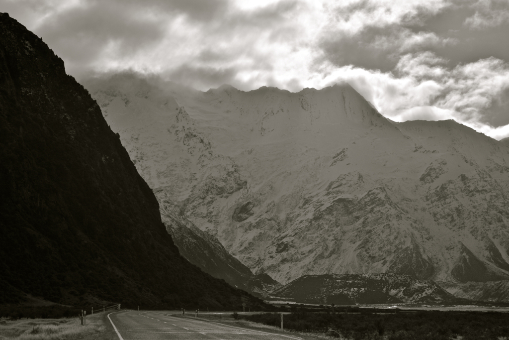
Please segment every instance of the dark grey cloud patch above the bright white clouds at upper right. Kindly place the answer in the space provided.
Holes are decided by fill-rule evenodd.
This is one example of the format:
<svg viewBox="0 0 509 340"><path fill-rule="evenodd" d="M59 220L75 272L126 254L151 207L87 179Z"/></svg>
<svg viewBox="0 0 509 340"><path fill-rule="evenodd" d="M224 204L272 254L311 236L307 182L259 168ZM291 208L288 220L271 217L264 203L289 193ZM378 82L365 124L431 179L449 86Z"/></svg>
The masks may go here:
<svg viewBox="0 0 509 340"><path fill-rule="evenodd" d="M496 25L489 25L497 15L494 13L509 13L509 4L506 1L487 3L482 8L485 21L472 19L476 14L479 17L477 2L456 1L440 11L418 7L415 12L402 15L397 22L367 23L353 35L329 31L322 37L319 47L334 65L381 71L392 70L401 55L423 50L447 59L451 67L490 57L509 61L509 44L500 43L509 32L509 14L508 20L498 14L502 19ZM359 12L370 16L376 9L375 3L363 1L335 11L338 19L348 21ZM418 37L421 39L411 42Z"/></svg>

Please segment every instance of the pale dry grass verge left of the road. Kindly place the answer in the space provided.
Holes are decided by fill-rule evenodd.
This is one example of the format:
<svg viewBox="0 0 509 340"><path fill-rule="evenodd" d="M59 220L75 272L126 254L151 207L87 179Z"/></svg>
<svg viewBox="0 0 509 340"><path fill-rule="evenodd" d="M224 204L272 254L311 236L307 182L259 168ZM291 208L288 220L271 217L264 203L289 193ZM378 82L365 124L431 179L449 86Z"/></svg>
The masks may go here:
<svg viewBox="0 0 509 340"><path fill-rule="evenodd" d="M87 325L79 319L22 319L0 321L0 340L74 340L104 332L101 315L87 316Z"/></svg>

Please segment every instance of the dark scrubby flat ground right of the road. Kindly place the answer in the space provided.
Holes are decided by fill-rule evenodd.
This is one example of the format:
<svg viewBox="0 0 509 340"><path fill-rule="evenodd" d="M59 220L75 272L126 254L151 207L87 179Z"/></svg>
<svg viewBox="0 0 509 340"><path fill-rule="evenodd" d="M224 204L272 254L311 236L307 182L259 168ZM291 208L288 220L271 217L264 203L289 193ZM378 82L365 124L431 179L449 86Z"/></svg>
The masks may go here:
<svg viewBox="0 0 509 340"><path fill-rule="evenodd" d="M263 313L246 319L274 327L280 325L279 313ZM509 313L296 310L284 315L284 327L348 340L509 340Z"/></svg>

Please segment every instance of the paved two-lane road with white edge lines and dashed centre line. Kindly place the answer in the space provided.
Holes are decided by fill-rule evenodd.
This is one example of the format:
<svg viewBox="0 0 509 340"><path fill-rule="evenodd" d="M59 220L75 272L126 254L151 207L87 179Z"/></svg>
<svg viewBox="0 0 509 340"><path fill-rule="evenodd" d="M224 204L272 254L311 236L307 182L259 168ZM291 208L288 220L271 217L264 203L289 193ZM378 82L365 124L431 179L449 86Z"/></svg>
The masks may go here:
<svg viewBox="0 0 509 340"><path fill-rule="evenodd" d="M120 340L302 340L216 322L169 316L164 311L121 311L109 315Z"/></svg>

